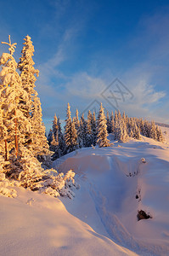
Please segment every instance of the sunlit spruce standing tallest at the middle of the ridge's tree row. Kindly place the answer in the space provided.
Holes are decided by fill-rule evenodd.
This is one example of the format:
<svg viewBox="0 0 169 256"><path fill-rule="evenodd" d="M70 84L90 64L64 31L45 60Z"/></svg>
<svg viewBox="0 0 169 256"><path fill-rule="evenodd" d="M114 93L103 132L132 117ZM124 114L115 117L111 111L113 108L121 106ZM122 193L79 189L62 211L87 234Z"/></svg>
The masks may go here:
<svg viewBox="0 0 169 256"><path fill-rule="evenodd" d="M110 141L108 140L108 132L107 132L107 120L104 115L104 108L102 103L99 108L98 115L98 125L97 125L97 143L99 144L99 148L101 147L109 147Z"/></svg>

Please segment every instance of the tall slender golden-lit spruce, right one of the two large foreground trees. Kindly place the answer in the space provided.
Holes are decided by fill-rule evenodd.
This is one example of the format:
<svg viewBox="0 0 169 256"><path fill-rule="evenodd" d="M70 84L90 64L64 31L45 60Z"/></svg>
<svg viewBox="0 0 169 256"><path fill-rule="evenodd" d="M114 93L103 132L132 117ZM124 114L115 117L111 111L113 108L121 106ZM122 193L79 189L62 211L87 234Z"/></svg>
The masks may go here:
<svg viewBox="0 0 169 256"><path fill-rule="evenodd" d="M29 143L27 148L32 150L40 161L47 164L50 161L50 152L48 150L48 142L45 137L45 126L42 123L41 102L35 88L36 76L39 71L33 66L35 62L32 60L34 55L34 46L31 38L26 36L24 46L21 51L18 68L20 69L20 79L24 90L28 93L28 101L25 105L25 111L31 123L31 134L29 134Z"/></svg>

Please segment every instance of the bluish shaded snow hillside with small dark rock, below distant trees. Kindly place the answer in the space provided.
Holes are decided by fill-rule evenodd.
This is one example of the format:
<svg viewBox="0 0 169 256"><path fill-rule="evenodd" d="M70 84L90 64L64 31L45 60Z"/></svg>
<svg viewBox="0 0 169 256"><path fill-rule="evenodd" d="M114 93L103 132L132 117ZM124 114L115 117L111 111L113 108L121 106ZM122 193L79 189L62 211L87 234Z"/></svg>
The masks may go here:
<svg viewBox="0 0 169 256"><path fill-rule="evenodd" d="M169 254L167 142L143 137L111 148L82 148L59 167L73 168L81 184L73 202L62 199L71 214L138 254ZM138 221L139 210L152 218Z"/></svg>

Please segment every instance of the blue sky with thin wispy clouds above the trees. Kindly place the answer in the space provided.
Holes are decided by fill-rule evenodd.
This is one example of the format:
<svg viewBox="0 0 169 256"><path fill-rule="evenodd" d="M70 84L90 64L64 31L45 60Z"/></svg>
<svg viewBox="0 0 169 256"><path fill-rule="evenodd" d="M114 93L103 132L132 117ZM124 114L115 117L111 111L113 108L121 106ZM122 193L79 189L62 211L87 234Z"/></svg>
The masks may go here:
<svg viewBox="0 0 169 256"><path fill-rule="evenodd" d="M103 102L169 124L168 28L168 1L1 1L1 41L11 35L16 60L32 38L47 127L54 113L65 119L67 102L72 115Z"/></svg>

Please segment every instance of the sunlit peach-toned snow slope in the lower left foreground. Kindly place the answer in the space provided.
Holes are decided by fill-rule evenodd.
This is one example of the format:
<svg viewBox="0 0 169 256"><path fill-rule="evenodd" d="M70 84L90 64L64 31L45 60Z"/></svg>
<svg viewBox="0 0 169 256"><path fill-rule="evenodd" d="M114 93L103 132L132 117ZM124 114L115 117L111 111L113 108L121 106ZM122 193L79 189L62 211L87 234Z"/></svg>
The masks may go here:
<svg viewBox="0 0 169 256"><path fill-rule="evenodd" d="M66 211L59 199L18 190L0 196L0 255L135 255Z"/></svg>

